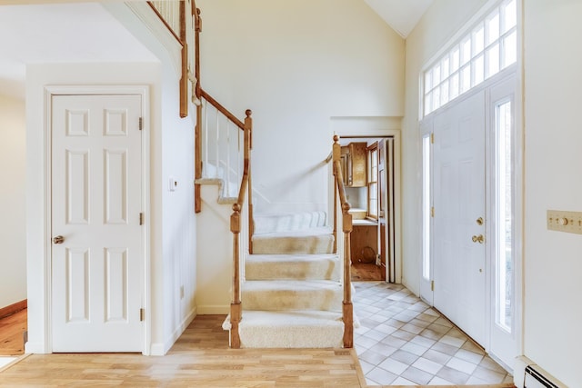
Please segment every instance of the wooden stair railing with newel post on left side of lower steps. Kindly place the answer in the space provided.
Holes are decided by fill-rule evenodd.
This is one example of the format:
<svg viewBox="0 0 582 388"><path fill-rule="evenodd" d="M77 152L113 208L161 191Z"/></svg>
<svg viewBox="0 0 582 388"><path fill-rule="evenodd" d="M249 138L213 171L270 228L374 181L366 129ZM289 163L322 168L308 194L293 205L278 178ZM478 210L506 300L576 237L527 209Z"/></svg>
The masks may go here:
<svg viewBox="0 0 582 388"><path fill-rule="evenodd" d="M243 178L238 190L236 204L233 204L233 214L230 216L230 231L233 233L233 298L230 303L230 347L240 348L240 336L238 334L238 323L243 315L243 306L241 302L241 279L244 278L244 262L246 254L249 254L250 238L252 235L251 223L246 223L244 218L252 214L251 198L251 135L253 131L252 112L246 110L244 124L245 140L245 162L243 168ZM248 200L245 200L248 195ZM248 225L249 227L245 227ZM243 234L241 237L240 234Z"/></svg>

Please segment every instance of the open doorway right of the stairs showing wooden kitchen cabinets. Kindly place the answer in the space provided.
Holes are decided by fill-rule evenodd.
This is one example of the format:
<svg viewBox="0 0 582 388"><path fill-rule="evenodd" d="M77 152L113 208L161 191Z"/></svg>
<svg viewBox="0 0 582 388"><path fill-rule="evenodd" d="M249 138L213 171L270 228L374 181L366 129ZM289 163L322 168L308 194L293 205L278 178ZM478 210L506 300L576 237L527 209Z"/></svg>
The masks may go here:
<svg viewBox="0 0 582 388"><path fill-rule="evenodd" d="M398 283L396 274L396 175L394 136L340 138L353 281ZM399 267L399 265L398 265Z"/></svg>

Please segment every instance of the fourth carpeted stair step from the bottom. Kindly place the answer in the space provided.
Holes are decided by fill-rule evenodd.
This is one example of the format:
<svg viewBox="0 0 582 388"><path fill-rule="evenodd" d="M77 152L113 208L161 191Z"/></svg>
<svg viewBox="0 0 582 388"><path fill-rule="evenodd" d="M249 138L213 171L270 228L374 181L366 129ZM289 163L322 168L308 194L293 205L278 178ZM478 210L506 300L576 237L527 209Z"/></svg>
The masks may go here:
<svg viewBox="0 0 582 388"><path fill-rule="evenodd" d="M253 236L253 254L332 254L334 235L327 227Z"/></svg>

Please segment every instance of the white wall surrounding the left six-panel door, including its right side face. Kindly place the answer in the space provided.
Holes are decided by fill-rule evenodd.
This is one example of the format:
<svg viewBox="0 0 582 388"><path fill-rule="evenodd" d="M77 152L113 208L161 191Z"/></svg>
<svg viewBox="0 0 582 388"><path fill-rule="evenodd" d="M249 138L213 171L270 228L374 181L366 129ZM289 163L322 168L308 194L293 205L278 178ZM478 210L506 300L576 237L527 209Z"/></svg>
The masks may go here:
<svg viewBox="0 0 582 388"><path fill-rule="evenodd" d="M151 136L151 352L166 353L196 314L196 217L192 182L194 136L179 119L177 78L171 66L136 64L35 64L26 72L27 264L29 343L43 353L44 331L44 86L149 85ZM162 87L164 86L164 87ZM40 114L39 114L40 113ZM146 117L147 119L147 117ZM169 176L178 190L168 191ZM180 288L184 287L184 297Z"/></svg>

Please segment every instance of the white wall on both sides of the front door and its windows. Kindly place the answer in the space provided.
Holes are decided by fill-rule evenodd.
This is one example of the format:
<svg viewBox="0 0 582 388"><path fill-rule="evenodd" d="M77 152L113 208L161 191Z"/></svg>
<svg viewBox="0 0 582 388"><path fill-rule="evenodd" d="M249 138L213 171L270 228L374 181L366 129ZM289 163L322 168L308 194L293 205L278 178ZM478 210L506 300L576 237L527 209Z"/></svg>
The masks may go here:
<svg viewBox="0 0 582 388"><path fill-rule="evenodd" d="M420 277L420 148L418 76L421 66L486 2L439 0L406 40L406 116L403 124L405 283ZM582 3L524 1L524 354L567 386L577 371L582 338L582 238L548 231L547 209L582 211L579 154L582 131Z"/></svg>

